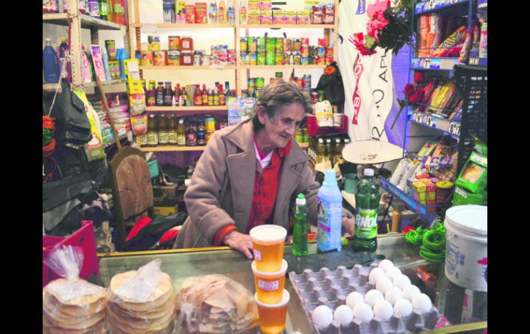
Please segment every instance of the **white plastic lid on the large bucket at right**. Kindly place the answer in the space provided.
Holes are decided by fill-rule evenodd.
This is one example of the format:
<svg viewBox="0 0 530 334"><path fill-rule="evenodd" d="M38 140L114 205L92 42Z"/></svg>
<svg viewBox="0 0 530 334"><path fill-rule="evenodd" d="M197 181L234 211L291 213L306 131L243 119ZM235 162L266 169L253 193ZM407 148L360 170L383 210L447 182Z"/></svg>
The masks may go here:
<svg viewBox="0 0 530 334"><path fill-rule="evenodd" d="M483 205L460 205L445 212L445 225L449 224L463 231L487 236L488 208Z"/></svg>

